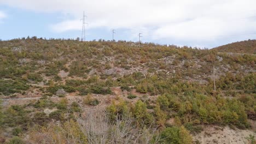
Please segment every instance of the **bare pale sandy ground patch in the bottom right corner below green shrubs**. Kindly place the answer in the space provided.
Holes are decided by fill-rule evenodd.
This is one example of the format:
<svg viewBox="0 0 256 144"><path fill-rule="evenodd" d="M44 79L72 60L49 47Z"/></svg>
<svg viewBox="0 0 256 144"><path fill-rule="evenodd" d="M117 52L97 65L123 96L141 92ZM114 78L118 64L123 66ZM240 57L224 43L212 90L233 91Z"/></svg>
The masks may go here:
<svg viewBox="0 0 256 144"><path fill-rule="evenodd" d="M256 136L252 130L231 129L230 127L219 127L208 125L204 130L193 136L194 141L201 144L222 143L222 144L247 144L246 137L249 135Z"/></svg>

